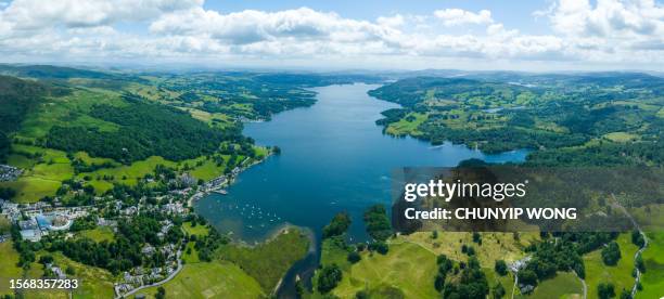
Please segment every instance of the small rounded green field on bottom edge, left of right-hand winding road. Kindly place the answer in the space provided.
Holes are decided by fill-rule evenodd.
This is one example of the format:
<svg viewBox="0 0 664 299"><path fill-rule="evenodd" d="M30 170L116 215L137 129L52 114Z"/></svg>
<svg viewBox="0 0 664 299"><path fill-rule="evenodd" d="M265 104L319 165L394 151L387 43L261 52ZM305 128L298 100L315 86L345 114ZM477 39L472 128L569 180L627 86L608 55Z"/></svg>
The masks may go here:
<svg viewBox="0 0 664 299"><path fill-rule="evenodd" d="M503 285L505 286L505 285ZM511 294L511 286L506 287L509 289L508 294ZM558 299L558 298L582 298L584 296L584 286L582 282L572 272L558 272L556 277L546 280L535 290L527 296L522 298L537 298L537 299ZM588 297L597 298L597 297Z"/></svg>

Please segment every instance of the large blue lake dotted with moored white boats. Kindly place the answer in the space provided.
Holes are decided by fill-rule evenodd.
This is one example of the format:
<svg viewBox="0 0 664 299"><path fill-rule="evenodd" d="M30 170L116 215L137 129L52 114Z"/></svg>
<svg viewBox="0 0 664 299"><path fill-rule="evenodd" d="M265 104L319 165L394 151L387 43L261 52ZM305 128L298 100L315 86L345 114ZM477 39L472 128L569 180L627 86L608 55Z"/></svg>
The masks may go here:
<svg viewBox="0 0 664 299"><path fill-rule="evenodd" d="M276 115L271 121L246 123L244 134L260 145L278 145L282 153L242 172L228 195L212 194L196 203L196 211L220 232L253 243L284 223L309 227L318 245L322 226L340 211L353 218L349 238L367 237L363 210L390 204L390 173L399 167L456 166L460 160L523 161L527 151L484 155L463 145L393 138L375 125L381 112L399 107L367 94L375 84L344 84L312 89L318 102ZM316 247L318 248L318 246ZM310 275L318 250L295 265L284 278ZM288 289L282 290L288 292Z"/></svg>

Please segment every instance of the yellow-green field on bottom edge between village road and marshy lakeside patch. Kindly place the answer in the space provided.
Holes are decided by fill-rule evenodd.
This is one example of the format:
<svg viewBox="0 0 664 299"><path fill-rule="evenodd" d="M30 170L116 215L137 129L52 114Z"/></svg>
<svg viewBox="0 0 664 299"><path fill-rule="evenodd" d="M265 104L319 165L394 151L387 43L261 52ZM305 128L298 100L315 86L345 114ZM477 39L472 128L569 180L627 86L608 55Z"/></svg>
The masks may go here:
<svg viewBox="0 0 664 299"><path fill-rule="evenodd" d="M164 284L167 298L259 298L265 295L256 280L227 262L187 263ZM155 295L157 287L138 294Z"/></svg>

